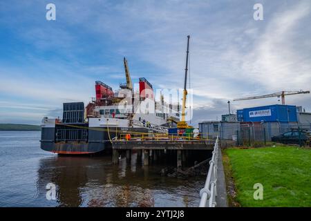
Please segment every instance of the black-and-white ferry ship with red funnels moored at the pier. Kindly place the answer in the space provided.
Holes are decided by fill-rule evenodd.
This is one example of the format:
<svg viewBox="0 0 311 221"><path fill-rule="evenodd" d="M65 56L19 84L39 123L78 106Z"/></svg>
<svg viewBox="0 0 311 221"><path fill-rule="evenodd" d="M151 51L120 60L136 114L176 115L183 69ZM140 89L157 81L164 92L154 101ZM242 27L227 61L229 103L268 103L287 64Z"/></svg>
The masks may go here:
<svg viewBox="0 0 311 221"><path fill-rule="evenodd" d="M114 92L95 81L95 98L63 104L62 119L44 117L41 122L41 149L58 154L91 154L111 149L114 139L135 133L167 133L179 121L179 104L156 102L153 86L144 77L134 91L124 57L126 84Z"/></svg>

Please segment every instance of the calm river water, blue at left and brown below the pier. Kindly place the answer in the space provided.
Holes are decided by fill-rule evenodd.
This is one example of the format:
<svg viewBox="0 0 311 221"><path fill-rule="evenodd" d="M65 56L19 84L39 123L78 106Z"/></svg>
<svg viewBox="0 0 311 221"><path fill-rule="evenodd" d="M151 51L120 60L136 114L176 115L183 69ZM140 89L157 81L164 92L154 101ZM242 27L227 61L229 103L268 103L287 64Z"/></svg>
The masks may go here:
<svg viewBox="0 0 311 221"><path fill-rule="evenodd" d="M39 131L0 131L0 206L198 206L204 176L162 177L163 165L142 166L136 154L118 165L109 155L58 156L39 140Z"/></svg>

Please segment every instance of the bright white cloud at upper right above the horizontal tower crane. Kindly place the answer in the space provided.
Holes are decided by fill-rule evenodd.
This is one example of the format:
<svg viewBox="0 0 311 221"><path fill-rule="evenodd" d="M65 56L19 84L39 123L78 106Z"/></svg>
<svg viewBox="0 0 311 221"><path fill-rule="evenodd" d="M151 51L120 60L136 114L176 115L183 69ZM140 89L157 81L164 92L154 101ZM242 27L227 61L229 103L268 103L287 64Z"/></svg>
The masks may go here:
<svg viewBox="0 0 311 221"><path fill-rule="evenodd" d="M308 35L301 37L303 19L310 19L310 3L274 14L267 28L259 35L254 50L244 55L243 72L256 79L267 90L305 89L311 83L311 47L299 50ZM310 32L310 28L305 32Z"/></svg>

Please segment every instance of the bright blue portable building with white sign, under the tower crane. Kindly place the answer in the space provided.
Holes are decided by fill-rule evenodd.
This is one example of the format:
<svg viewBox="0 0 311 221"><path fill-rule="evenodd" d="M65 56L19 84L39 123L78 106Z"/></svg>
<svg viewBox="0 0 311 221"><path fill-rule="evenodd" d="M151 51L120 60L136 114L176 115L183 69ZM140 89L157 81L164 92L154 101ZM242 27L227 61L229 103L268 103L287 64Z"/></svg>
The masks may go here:
<svg viewBox="0 0 311 221"><path fill-rule="evenodd" d="M296 106L269 105L237 110L239 122L297 122Z"/></svg>

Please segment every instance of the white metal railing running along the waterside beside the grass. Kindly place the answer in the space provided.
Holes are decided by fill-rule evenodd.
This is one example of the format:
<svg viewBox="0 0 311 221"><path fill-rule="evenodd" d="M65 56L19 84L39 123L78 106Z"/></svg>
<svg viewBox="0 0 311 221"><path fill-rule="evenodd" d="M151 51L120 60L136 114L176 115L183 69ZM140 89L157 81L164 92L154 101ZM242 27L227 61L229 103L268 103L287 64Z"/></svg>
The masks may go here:
<svg viewBox="0 0 311 221"><path fill-rule="evenodd" d="M209 161L209 171L207 172L205 186L203 189L200 190L200 207L216 206L218 146L219 138L217 137L214 145L213 155L211 156L211 160Z"/></svg>

